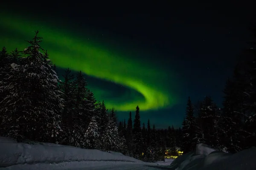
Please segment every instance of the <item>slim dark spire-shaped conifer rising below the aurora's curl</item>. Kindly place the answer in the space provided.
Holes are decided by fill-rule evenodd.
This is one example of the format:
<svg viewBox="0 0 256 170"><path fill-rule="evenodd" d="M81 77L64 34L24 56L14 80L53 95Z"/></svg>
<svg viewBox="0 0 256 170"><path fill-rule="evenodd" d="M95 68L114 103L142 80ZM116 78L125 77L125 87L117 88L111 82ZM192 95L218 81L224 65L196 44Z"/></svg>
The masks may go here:
<svg viewBox="0 0 256 170"><path fill-rule="evenodd" d="M141 141L141 126L140 126L140 108L136 107L135 119L134 119L134 128L132 131L133 134L133 143L134 143L134 157L139 158L142 154L142 141Z"/></svg>

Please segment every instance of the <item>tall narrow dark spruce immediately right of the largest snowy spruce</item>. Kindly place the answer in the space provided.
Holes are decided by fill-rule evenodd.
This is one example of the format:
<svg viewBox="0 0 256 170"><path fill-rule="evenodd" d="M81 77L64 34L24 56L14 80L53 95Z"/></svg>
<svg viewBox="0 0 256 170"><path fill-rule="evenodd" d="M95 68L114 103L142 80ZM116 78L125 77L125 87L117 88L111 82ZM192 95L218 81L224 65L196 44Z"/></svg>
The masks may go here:
<svg viewBox="0 0 256 170"><path fill-rule="evenodd" d="M61 97L64 99L64 109L61 114L62 118L62 132L61 132L61 144L72 145L72 129L73 121L72 115L75 107L75 85L74 85L74 75L71 74L69 68L65 71L65 74L62 75L63 81L59 83L59 89L62 92Z"/></svg>

